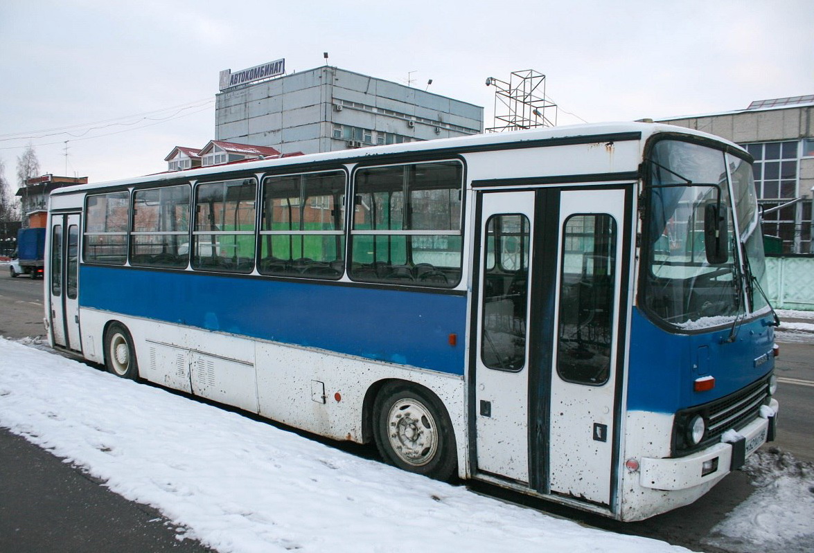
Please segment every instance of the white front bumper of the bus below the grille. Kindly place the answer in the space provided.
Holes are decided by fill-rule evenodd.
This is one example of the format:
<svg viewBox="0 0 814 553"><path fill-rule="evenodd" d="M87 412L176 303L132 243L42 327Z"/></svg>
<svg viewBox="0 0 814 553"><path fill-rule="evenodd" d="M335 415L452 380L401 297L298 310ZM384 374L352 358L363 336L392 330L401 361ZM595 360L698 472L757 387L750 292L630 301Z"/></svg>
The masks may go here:
<svg viewBox="0 0 814 553"><path fill-rule="evenodd" d="M716 481L741 468L752 453L774 438L777 400L772 399L768 407L737 433L724 434L722 440L727 442L676 459L642 458L639 484L653 490L686 490Z"/></svg>

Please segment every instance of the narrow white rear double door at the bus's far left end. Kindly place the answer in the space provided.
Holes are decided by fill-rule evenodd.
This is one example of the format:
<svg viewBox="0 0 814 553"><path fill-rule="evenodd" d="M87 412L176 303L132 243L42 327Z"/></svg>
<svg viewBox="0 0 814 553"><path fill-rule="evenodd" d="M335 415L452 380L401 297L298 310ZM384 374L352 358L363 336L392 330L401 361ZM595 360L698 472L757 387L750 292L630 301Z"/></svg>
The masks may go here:
<svg viewBox="0 0 814 553"><path fill-rule="evenodd" d="M79 332L79 214L51 216L49 236L50 326L56 346L82 351Z"/></svg>

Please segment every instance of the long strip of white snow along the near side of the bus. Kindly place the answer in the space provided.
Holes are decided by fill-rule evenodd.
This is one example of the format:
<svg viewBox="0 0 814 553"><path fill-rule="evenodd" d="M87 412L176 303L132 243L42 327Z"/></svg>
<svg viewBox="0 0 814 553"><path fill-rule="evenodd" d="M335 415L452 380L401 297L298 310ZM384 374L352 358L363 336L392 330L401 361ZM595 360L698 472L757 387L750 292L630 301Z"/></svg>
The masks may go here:
<svg viewBox="0 0 814 553"><path fill-rule="evenodd" d="M688 551L586 529L0 340L0 425L218 551Z"/></svg>

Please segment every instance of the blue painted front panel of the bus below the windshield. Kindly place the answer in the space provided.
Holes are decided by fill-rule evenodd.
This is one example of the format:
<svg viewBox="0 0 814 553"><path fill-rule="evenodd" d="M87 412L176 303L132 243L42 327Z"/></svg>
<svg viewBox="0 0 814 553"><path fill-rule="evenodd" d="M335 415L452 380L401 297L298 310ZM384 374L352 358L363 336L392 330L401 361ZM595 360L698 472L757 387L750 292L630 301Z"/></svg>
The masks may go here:
<svg viewBox="0 0 814 553"><path fill-rule="evenodd" d="M628 369L628 409L674 413L723 398L774 368L772 316L707 333L671 334L633 309ZM715 388L696 392L696 378L715 377Z"/></svg>

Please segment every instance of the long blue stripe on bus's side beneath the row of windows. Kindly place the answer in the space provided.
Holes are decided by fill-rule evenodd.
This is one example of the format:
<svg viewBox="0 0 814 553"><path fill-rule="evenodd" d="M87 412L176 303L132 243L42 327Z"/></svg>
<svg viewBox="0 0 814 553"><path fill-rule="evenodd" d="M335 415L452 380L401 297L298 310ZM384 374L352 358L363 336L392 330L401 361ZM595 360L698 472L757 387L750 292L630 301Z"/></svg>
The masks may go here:
<svg viewBox="0 0 814 553"><path fill-rule="evenodd" d="M463 374L462 295L94 265L80 283L81 307Z"/></svg>

